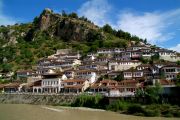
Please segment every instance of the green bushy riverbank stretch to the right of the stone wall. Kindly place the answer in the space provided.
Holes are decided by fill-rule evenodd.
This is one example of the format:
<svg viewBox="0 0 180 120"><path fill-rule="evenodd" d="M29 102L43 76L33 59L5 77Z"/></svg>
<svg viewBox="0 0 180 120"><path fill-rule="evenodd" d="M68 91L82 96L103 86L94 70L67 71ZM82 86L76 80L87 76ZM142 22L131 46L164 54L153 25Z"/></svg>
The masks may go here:
<svg viewBox="0 0 180 120"><path fill-rule="evenodd" d="M113 103L101 95L82 94L71 104L72 107L90 107L117 113L148 117L180 117L180 107L170 104L142 104L135 101L116 100Z"/></svg>

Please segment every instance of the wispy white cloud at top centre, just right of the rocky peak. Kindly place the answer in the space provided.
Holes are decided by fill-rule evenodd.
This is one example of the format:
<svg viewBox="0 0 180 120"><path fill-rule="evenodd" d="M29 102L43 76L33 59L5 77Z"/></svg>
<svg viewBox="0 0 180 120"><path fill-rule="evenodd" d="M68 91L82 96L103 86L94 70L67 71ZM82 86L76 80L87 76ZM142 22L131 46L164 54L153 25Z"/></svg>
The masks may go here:
<svg viewBox="0 0 180 120"><path fill-rule="evenodd" d="M78 14L87 17L96 25L103 26L110 23L107 15L110 11L111 5L107 0L89 0L80 7Z"/></svg>

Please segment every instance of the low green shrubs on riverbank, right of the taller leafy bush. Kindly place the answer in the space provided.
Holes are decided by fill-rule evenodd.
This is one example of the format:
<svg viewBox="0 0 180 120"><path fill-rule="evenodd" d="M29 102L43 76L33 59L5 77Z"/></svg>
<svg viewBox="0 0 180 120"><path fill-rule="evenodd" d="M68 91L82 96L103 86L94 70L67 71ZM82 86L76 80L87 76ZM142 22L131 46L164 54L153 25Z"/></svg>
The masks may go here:
<svg viewBox="0 0 180 120"><path fill-rule="evenodd" d="M180 107L172 106L170 104L141 105L139 103L130 103L118 100L108 105L107 110L137 116L180 117Z"/></svg>

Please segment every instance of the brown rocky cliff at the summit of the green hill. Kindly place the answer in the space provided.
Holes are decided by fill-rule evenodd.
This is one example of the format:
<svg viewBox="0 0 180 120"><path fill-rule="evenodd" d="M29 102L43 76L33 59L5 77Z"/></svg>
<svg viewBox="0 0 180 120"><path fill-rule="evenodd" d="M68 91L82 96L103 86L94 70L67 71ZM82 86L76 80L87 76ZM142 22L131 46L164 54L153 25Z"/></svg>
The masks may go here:
<svg viewBox="0 0 180 120"><path fill-rule="evenodd" d="M78 17L62 16L55 14L50 9L45 9L34 21L33 35L38 36L38 31L45 31L51 38L64 41L88 41L96 36L103 39L103 33L93 23ZM32 32L30 29L28 32ZM28 33L27 33L28 34ZM31 39L33 39L32 36Z"/></svg>

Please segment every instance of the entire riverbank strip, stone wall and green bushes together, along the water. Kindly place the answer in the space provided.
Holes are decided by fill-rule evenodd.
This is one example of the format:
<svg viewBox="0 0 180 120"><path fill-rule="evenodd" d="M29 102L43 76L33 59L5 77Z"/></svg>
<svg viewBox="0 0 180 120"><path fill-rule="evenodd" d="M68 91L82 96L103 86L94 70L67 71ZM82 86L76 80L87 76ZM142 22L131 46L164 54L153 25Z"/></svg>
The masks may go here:
<svg viewBox="0 0 180 120"><path fill-rule="evenodd" d="M170 104L147 105L120 100L109 103L108 98L101 95L0 94L0 103L52 105L60 109L113 111L135 116L180 117L179 106Z"/></svg>

